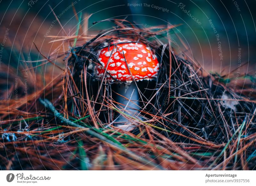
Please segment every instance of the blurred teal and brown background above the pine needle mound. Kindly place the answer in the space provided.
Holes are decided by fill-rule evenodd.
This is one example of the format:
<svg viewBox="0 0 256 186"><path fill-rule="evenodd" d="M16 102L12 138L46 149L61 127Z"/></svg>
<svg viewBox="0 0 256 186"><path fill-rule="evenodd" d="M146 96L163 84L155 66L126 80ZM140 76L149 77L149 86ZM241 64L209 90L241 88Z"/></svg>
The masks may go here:
<svg viewBox="0 0 256 186"><path fill-rule="evenodd" d="M26 35L26 37L29 36L32 41L36 41L35 43L40 45L40 41L42 42L45 39L45 33L52 24L52 21L55 20L49 5L56 15L60 15L59 20L65 30L68 32L69 29L73 29L74 32L77 20L72 9L72 2L76 12L82 11L83 14L92 14L89 19L89 31L100 31L113 27L113 23L110 22L92 24L94 21L108 18L124 19L127 17L127 20L141 26L145 24L167 26L168 24L181 23L182 25L174 29L174 32L188 46L188 50L180 42L178 42L179 46L181 46L183 51L190 53L206 70L220 73L223 70L230 72L237 68L238 49L241 48L242 62L249 62L247 69L254 70L255 72L255 1L1 1L1 36L4 36L6 28L10 28L10 42L19 42L21 49L32 47L29 42L23 41L24 38L21 36L21 33ZM134 7L128 4L141 4L141 6ZM148 4L148 6L145 6L145 4ZM155 6L161 9L157 10ZM166 11L163 12L163 9ZM198 24L190 16L194 16L193 18L198 19L201 24ZM217 41L216 33L214 33L213 27L209 22L210 19L216 29L215 32L219 34L219 41ZM28 32L29 35L26 33L28 30L30 30ZM56 23L49 35L58 34L59 32L62 31ZM178 38L173 33L171 34L178 41ZM44 43L49 41L50 38L46 38ZM219 56L220 48L218 48L218 42L221 42L219 44L221 44L222 59ZM44 50L44 47L41 48Z"/></svg>

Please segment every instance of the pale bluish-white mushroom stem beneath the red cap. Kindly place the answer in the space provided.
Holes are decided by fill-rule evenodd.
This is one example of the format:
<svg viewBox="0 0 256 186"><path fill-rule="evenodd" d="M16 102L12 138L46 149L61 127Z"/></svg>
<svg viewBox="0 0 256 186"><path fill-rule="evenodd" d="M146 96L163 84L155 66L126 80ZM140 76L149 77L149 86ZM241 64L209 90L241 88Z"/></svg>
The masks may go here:
<svg viewBox="0 0 256 186"><path fill-rule="evenodd" d="M119 84L116 86L115 91L123 96L116 95L115 101L120 103L117 107L121 111L125 109L125 114L142 120L142 117L139 116L140 112L138 111L140 110L140 102L138 101L140 97L135 82ZM136 125L134 125L135 123L128 120L127 117L122 114L117 113L117 116L114 119L116 119L116 126L125 131L130 131L136 127Z"/></svg>

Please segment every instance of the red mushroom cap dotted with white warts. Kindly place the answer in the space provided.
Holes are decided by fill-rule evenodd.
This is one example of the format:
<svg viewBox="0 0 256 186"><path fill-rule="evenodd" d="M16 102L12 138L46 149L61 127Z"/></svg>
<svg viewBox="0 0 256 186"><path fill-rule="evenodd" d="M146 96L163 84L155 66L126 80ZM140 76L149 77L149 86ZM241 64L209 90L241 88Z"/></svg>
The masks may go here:
<svg viewBox="0 0 256 186"><path fill-rule="evenodd" d="M99 78L103 77L105 69L117 81L129 82L133 80L132 76L136 81L151 80L157 76L159 62L156 55L145 44L135 42L117 43L114 50L113 47L105 47L99 51L98 61L104 67L96 67ZM106 74L108 80L114 81L111 76Z"/></svg>

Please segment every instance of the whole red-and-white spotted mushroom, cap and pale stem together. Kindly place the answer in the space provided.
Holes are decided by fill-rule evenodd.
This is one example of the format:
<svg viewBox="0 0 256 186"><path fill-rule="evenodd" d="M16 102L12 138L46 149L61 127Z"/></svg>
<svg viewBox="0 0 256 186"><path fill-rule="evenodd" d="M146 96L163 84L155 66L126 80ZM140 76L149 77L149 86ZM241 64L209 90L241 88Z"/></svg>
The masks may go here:
<svg viewBox="0 0 256 186"><path fill-rule="evenodd" d="M114 49L113 47L115 45L105 47L99 51L98 60L103 67L98 66L96 68L97 76L102 79L105 70L107 70L110 75L105 73L105 78L108 81L122 82L123 84L119 85L115 91L123 97L117 96L115 101L120 103L121 107L126 106L133 110L134 114L125 112L126 114L141 119L138 116L138 110L140 109L138 101L139 92L134 81L154 79L157 76L159 62L156 55L152 53L152 50L142 43L128 43L128 41L119 40L116 47ZM128 105L128 100L124 100L124 97L131 99ZM127 118L121 115L115 121L118 123L117 126L126 131L132 130L135 127Z"/></svg>

